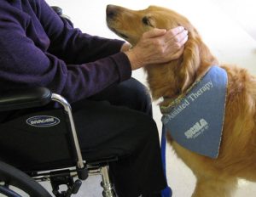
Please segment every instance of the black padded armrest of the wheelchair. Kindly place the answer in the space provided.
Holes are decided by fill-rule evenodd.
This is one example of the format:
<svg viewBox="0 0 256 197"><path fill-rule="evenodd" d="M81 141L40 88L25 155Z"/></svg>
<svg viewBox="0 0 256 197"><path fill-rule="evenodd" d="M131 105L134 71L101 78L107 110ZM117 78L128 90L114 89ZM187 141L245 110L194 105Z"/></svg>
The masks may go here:
<svg viewBox="0 0 256 197"><path fill-rule="evenodd" d="M12 90L0 95L0 111L20 110L48 104L51 92L46 87Z"/></svg>

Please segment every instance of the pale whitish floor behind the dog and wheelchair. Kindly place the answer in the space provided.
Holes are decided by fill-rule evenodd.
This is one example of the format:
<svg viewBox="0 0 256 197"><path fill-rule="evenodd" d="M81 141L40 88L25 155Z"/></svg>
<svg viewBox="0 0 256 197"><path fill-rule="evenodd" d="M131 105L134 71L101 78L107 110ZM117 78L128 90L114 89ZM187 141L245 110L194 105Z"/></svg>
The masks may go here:
<svg viewBox="0 0 256 197"><path fill-rule="evenodd" d="M50 5L63 8L73 20L74 25L82 31L101 37L118 38L105 25L105 8L107 4L117 4L127 8L147 8L150 4L172 8L185 15L201 33L212 53L220 62L241 65L256 74L256 3L252 0L46 0ZM156 3L155 3L156 2ZM145 82L142 70L137 70L133 76ZM154 119L160 129L160 111L157 102L154 103ZM189 197L195 187L195 177L181 160L178 160L167 149L168 183L173 190L173 197ZM100 177L90 177L85 181L78 196L99 197L101 188ZM49 187L49 186L47 186ZM127 186L129 187L129 186ZM256 196L256 183L239 182L234 197Z"/></svg>

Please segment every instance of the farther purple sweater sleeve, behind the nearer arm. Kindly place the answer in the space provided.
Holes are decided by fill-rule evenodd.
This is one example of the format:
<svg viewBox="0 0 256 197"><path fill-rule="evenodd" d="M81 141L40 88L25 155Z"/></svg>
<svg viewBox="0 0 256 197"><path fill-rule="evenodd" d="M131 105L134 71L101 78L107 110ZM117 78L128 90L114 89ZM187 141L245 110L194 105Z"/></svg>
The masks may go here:
<svg viewBox="0 0 256 197"><path fill-rule="evenodd" d="M49 51L67 63L81 64L119 53L123 41L82 33L55 14L44 0L34 3L33 9L51 41Z"/></svg>

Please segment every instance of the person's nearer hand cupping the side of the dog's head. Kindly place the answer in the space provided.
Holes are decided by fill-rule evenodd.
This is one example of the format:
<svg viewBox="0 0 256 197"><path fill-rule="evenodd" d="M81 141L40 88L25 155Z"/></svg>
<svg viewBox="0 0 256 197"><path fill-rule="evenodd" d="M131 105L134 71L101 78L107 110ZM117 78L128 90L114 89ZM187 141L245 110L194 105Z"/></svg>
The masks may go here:
<svg viewBox="0 0 256 197"><path fill-rule="evenodd" d="M161 64L177 59L183 53L188 31L178 26L169 31L153 29L143 34L137 45L124 53L136 70L146 65Z"/></svg>

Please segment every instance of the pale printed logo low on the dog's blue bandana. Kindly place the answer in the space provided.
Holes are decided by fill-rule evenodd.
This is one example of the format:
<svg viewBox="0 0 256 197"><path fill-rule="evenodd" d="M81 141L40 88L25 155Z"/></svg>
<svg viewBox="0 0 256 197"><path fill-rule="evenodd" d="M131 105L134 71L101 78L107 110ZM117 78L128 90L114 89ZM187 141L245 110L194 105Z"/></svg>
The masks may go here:
<svg viewBox="0 0 256 197"><path fill-rule="evenodd" d="M194 126L190 127L189 130L187 130L184 134L186 138L196 138L198 137L202 132L207 130L209 127L208 122L201 118L200 121L197 121Z"/></svg>

